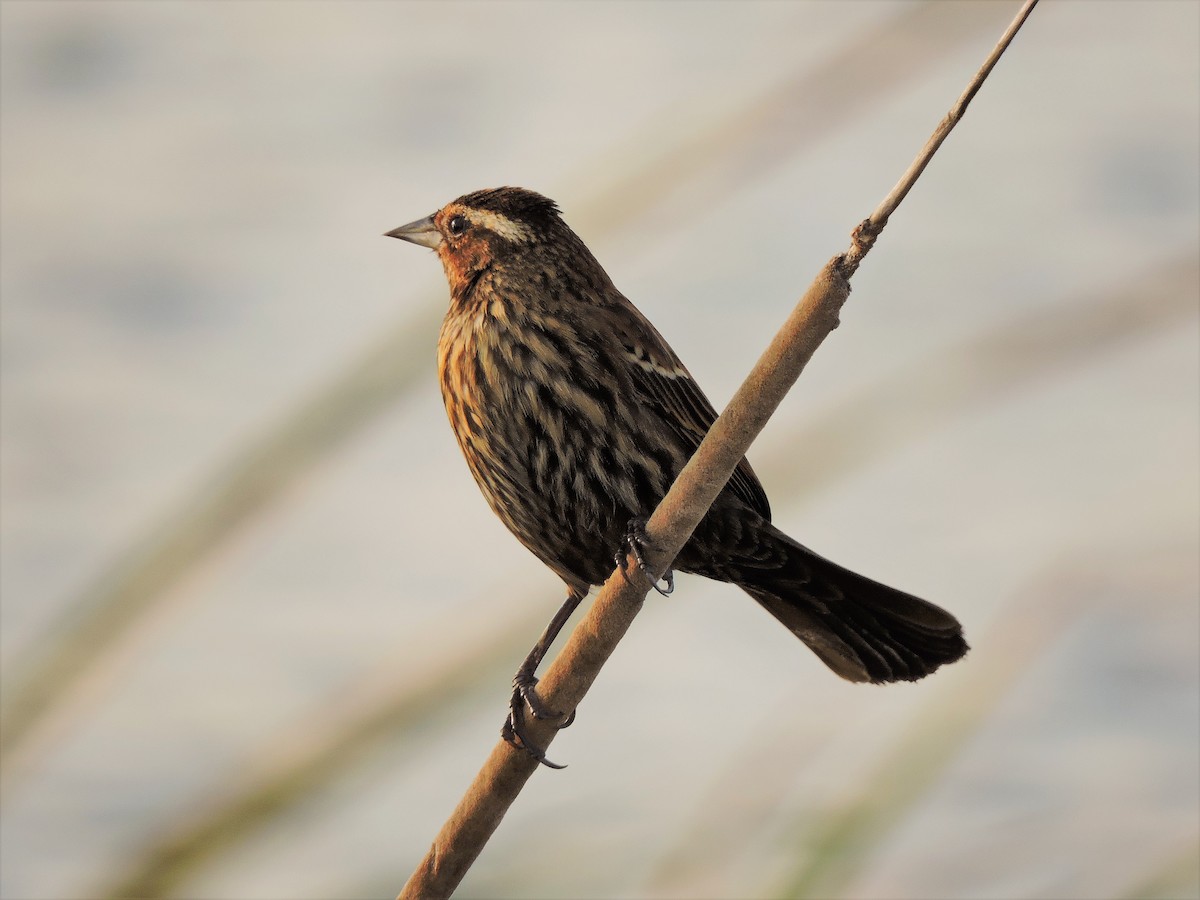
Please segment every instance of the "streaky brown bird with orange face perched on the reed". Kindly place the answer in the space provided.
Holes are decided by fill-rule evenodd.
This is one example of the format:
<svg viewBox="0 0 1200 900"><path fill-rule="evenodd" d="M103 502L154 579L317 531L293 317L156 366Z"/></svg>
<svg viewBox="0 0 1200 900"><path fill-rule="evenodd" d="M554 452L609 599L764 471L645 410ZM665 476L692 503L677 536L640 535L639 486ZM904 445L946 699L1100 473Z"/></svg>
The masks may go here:
<svg viewBox="0 0 1200 900"><path fill-rule="evenodd" d="M612 574L614 552L641 559L644 517L716 410L553 200L521 187L474 191L385 234L442 262L450 302L438 377L455 438L496 515L566 586L566 601L517 670L502 730L560 768L523 730L527 707L564 719L538 697L536 668L589 588ZM745 458L673 568L742 588L851 682L917 680L968 649L946 610L845 569L774 526Z"/></svg>

